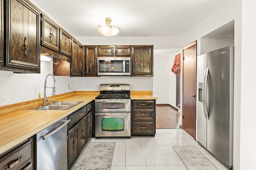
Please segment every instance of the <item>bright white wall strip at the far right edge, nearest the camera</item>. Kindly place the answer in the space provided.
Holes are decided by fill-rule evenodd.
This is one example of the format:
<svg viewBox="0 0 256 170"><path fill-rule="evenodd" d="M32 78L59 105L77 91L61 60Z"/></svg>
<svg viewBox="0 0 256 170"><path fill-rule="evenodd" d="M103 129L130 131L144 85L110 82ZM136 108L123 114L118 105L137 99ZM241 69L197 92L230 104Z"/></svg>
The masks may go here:
<svg viewBox="0 0 256 170"><path fill-rule="evenodd" d="M256 1L242 0L240 170L255 169Z"/></svg>

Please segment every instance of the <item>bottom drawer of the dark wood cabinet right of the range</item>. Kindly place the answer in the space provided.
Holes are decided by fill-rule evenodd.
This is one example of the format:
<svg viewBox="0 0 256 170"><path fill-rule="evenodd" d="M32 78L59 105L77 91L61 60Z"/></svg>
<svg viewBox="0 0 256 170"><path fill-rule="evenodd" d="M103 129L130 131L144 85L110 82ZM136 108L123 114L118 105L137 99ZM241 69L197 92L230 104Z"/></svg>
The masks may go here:
<svg viewBox="0 0 256 170"><path fill-rule="evenodd" d="M132 122L132 135L155 135L155 123Z"/></svg>

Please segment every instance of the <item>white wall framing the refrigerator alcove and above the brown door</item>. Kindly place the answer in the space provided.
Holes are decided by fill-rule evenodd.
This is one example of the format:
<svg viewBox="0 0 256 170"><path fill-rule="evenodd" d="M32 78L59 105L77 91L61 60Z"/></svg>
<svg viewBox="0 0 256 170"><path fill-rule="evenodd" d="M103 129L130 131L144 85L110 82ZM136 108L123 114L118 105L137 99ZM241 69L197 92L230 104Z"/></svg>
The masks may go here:
<svg viewBox="0 0 256 170"><path fill-rule="evenodd" d="M183 37L183 46L197 40L197 55L200 55L200 38L214 31L218 27L234 20L234 170L240 168L240 92L241 92L241 25L242 0L229 0L208 18L190 30ZM253 16L253 15L252 15ZM253 20L251 18L251 20ZM247 88L248 89L248 88ZM248 106L248 105L247 105ZM248 140L248 139L247 139ZM254 150L255 151L255 150ZM247 157L246 155L243 155ZM251 155L254 156L254 155ZM242 166L241 166L242 167ZM246 168L241 168L241 170Z"/></svg>

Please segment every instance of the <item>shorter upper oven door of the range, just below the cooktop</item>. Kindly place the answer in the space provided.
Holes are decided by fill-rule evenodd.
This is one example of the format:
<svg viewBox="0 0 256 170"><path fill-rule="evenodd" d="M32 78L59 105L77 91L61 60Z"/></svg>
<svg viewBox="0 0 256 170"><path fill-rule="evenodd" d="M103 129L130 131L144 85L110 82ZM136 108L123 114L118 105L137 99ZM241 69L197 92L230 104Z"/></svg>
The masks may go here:
<svg viewBox="0 0 256 170"><path fill-rule="evenodd" d="M95 112L130 112L130 99L96 99Z"/></svg>

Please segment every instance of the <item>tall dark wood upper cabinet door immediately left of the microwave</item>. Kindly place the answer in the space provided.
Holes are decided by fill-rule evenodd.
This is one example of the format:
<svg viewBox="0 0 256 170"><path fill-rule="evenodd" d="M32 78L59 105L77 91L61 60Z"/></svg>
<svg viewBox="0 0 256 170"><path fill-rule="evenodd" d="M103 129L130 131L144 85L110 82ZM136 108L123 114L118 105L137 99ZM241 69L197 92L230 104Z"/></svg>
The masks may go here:
<svg viewBox="0 0 256 170"><path fill-rule="evenodd" d="M84 46L85 50L85 76L97 76L97 47Z"/></svg>

